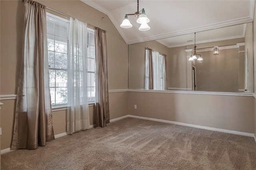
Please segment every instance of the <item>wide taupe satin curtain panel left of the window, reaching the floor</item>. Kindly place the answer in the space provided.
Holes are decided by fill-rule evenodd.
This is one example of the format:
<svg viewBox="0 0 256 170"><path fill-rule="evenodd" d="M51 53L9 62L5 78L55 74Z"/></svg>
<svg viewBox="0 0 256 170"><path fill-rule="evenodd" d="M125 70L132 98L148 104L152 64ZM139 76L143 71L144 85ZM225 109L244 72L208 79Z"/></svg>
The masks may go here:
<svg viewBox="0 0 256 170"><path fill-rule="evenodd" d="M54 140L47 56L46 7L25 0L25 32L12 149Z"/></svg>

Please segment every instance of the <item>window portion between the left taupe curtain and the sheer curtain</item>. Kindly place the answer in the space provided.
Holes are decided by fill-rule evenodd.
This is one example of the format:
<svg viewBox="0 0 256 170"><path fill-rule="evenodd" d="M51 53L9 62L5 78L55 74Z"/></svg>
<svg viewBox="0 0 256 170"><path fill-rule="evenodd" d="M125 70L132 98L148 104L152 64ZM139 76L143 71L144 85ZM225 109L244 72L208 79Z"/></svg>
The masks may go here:
<svg viewBox="0 0 256 170"><path fill-rule="evenodd" d="M51 103L67 104L69 21L47 14L46 25Z"/></svg>

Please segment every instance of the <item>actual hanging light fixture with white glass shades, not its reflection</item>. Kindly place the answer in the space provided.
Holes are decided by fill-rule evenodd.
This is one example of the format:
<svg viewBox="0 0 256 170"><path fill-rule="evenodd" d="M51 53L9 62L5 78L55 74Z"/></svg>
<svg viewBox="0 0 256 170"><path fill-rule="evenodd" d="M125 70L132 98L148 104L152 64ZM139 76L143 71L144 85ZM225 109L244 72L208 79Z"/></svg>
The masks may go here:
<svg viewBox="0 0 256 170"><path fill-rule="evenodd" d="M128 16L131 16L131 15L138 18L137 23L141 24L140 28L139 28L140 31L147 31L150 29L150 27L148 26L148 22L150 20L146 16L144 8L139 11L139 0L137 0L137 12L135 12L134 14L125 14L124 21L122 22L120 27L122 27L122 28L132 27L132 24L128 20Z"/></svg>

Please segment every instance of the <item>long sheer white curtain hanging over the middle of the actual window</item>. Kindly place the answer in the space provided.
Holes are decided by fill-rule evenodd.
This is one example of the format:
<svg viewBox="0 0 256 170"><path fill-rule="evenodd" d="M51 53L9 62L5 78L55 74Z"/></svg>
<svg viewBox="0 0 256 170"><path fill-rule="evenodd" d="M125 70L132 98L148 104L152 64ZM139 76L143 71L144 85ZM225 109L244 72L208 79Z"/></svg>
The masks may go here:
<svg viewBox="0 0 256 170"><path fill-rule="evenodd" d="M87 94L87 24L70 18L68 42L68 132L90 127Z"/></svg>

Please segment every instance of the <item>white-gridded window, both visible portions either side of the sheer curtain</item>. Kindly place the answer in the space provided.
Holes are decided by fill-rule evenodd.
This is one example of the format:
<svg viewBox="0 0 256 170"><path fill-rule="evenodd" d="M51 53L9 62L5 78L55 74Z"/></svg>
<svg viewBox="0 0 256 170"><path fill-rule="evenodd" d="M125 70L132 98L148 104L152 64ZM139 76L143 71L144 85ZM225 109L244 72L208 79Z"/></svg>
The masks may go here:
<svg viewBox="0 0 256 170"><path fill-rule="evenodd" d="M48 63L52 106L68 103L68 35L69 21L47 13ZM95 101L95 38L87 29L87 90L88 102Z"/></svg>

